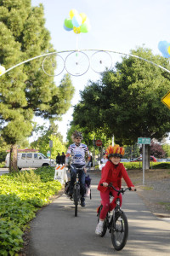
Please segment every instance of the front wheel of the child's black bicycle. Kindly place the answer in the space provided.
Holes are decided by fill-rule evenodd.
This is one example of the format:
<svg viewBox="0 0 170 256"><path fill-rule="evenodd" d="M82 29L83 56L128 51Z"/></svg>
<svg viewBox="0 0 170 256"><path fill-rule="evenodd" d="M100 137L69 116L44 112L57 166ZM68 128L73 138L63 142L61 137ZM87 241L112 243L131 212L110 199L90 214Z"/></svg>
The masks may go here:
<svg viewBox="0 0 170 256"><path fill-rule="evenodd" d="M116 212L111 228L111 241L116 251L122 250L126 245L128 236L127 217L124 212Z"/></svg>

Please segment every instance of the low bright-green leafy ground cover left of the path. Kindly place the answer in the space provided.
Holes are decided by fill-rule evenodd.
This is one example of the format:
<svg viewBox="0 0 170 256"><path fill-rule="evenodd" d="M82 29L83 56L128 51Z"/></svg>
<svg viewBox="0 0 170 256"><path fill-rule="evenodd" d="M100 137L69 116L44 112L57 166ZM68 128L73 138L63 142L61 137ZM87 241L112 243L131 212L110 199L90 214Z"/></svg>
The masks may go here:
<svg viewBox="0 0 170 256"><path fill-rule="evenodd" d="M52 167L0 176L0 255L20 251L26 225L59 189Z"/></svg>

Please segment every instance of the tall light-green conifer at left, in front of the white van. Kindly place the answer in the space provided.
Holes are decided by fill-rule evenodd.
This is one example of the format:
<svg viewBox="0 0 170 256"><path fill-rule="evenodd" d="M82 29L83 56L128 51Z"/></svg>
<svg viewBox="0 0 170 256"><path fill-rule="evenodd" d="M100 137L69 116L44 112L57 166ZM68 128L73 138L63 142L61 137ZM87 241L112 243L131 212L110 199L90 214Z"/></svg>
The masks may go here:
<svg viewBox="0 0 170 256"><path fill-rule="evenodd" d="M42 4L31 7L31 0L0 0L1 65L8 69L50 51L54 49ZM68 75L57 87L54 77L43 72L42 58L14 68L0 81L1 134L10 145L10 171L17 171L17 144L31 135L33 115L60 119L71 106L74 88Z"/></svg>

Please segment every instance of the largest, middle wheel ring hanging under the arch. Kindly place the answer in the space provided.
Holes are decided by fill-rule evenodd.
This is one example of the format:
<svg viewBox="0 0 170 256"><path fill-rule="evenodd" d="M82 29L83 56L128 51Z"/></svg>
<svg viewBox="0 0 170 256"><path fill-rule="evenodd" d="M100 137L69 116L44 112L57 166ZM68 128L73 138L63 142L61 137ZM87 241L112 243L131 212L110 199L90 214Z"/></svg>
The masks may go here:
<svg viewBox="0 0 170 256"><path fill-rule="evenodd" d="M65 69L72 76L82 76L89 67L88 55L82 51L73 51L65 58Z"/></svg>

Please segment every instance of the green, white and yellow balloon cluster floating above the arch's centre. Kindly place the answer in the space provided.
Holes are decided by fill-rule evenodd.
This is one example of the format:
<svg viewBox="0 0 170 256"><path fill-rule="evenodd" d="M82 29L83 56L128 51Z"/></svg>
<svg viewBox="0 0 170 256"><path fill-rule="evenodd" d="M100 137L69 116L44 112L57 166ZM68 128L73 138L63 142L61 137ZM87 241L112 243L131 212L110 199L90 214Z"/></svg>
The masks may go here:
<svg viewBox="0 0 170 256"><path fill-rule="evenodd" d="M87 15L81 13L78 14L76 9L71 9L70 18L65 19L64 28L66 31L75 32L76 34L79 33L87 33L90 30L90 22L88 20Z"/></svg>

